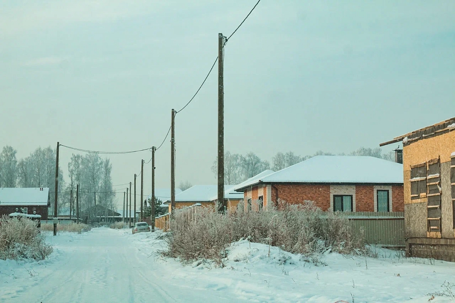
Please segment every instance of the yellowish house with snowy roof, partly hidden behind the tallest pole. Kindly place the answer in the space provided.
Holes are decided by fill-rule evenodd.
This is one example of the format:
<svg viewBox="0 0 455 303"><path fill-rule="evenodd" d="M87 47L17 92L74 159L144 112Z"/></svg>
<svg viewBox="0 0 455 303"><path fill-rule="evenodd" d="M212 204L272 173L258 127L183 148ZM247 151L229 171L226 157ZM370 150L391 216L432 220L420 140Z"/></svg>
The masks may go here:
<svg viewBox="0 0 455 303"><path fill-rule="evenodd" d="M234 188L234 185L225 185L225 200L227 200L229 210L234 210L239 201L243 200L243 193L234 191ZM201 203L205 207L215 207L215 203L218 201L217 193L217 185L195 185L176 194L176 209L196 203ZM168 205L169 212L171 212L171 200L168 199L164 204Z"/></svg>

